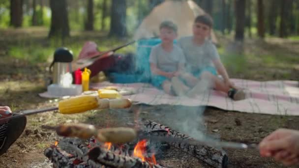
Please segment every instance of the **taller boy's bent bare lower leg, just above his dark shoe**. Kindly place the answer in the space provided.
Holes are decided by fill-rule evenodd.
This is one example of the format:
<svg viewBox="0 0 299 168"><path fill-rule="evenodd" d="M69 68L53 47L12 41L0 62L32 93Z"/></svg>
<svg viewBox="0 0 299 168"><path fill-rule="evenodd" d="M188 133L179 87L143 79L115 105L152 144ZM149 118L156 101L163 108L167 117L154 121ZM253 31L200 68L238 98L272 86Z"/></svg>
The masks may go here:
<svg viewBox="0 0 299 168"><path fill-rule="evenodd" d="M200 78L201 80L209 80L210 87L214 88L215 90L220 90L227 93L230 89L230 87L226 85L221 79L209 72L203 72Z"/></svg>

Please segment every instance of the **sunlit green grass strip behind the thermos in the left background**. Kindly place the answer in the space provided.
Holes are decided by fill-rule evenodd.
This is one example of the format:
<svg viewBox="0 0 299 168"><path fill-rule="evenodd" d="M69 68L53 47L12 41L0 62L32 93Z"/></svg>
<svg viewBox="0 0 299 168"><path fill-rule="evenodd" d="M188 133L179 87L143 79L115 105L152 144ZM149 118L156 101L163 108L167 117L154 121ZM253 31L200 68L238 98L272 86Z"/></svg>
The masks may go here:
<svg viewBox="0 0 299 168"><path fill-rule="evenodd" d="M59 47L66 47L73 52L74 58L77 58L87 41L94 41L97 44L99 51L107 51L114 49L120 45L131 41L129 39L117 39L117 38L107 38L102 37L106 35L101 32L80 32L74 31L71 33L71 37L64 40L60 38L46 39L47 32L40 32L41 37L30 38L27 36L17 37L17 41L11 42L8 47L8 55L18 59L24 59L30 63L38 62L50 62L53 60L53 53ZM85 37L87 35L87 37ZM83 37L83 38L82 38ZM120 49L119 53L133 52L135 51L135 46L130 45L123 49Z"/></svg>

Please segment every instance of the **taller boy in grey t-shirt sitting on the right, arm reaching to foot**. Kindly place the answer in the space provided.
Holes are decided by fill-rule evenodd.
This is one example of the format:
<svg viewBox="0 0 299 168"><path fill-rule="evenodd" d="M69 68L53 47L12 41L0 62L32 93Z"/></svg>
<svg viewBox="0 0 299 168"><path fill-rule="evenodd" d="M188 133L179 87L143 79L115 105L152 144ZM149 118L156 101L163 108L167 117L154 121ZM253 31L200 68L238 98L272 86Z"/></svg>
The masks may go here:
<svg viewBox="0 0 299 168"><path fill-rule="evenodd" d="M183 37L179 40L179 46L186 58L186 70L183 79L193 87L189 91L196 94L203 87L211 87L223 91L234 100L242 100L245 93L237 89L223 66L216 47L207 39L212 29L213 21L209 15L201 15L195 18L193 36ZM223 77L223 81L217 77L217 72ZM205 85L203 85L205 84Z"/></svg>

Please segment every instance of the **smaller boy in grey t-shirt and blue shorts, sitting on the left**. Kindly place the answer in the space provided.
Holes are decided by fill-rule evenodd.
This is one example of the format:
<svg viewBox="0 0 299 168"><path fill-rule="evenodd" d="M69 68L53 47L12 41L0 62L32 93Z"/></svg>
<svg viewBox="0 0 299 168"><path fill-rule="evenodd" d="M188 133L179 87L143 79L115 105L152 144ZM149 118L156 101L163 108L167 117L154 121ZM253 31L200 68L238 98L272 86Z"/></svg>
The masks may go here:
<svg viewBox="0 0 299 168"><path fill-rule="evenodd" d="M162 88L168 94L183 95L189 88L177 78L185 64L182 50L174 45L177 37L177 26L164 21L160 25L162 43L151 49L149 56L152 73L151 84Z"/></svg>

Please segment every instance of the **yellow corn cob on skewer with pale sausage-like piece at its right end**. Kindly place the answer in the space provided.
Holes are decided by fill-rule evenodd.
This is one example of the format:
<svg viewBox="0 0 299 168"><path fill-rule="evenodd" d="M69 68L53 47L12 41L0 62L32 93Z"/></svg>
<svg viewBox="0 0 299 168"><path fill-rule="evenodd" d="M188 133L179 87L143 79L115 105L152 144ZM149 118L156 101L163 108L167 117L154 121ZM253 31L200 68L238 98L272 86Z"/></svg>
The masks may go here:
<svg viewBox="0 0 299 168"><path fill-rule="evenodd" d="M59 102L59 112L72 114L94 109L124 109L132 105L129 99L100 99L94 95L73 97Z"/></svg>

